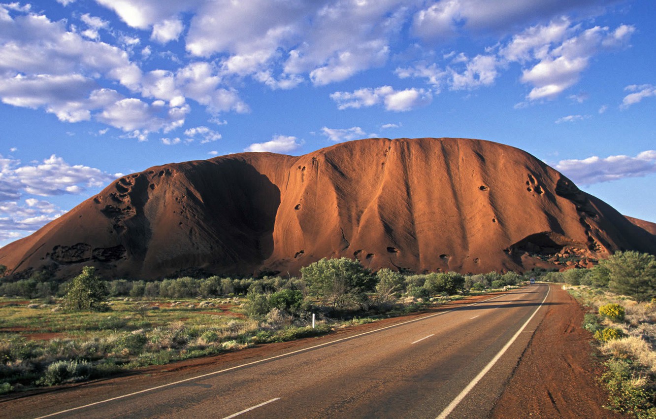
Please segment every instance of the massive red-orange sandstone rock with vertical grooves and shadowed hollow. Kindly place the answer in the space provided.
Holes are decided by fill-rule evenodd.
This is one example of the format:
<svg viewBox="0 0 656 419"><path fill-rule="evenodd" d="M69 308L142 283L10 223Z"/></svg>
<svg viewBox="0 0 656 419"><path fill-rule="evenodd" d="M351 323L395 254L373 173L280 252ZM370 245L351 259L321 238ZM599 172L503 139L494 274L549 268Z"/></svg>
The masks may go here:
<svg viewBox="0 0 656 419"><path fill-rule="evenodd" d="M656 253L629 221L537 158L471 139L366 139L304 156L241 153L121 177L0 249L15 276L85 265L113 278L295 275L321 257L365 267L523 271L556 255Z"/></svg>

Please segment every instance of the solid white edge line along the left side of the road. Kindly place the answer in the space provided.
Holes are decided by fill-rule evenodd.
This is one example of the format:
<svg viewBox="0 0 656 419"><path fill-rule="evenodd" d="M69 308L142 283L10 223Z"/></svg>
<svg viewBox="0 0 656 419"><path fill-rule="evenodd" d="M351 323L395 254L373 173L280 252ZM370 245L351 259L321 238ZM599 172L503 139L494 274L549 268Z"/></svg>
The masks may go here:
<svg viewBox="0 0 656 419"><path fill-rule="evenodd" d="M510 294L512 294L512 292ZM465 307L471 307L472 305L485 303L487 301L491 301L493 299L501 298L502 296L506 296L506 295L507 294L501 294L501 296L496 296L496 297L493 297L493 298L484 299L483 301L477 301L476 303L463 305L462 307L457 307L455 309L451 309L451 310L447 310L447 311L441 311L440 313L434 313L432 315L427 315L427 316L424 316L424 317L419 317L417 319L408 320L407 322L401 322L401 323L397 323L397 324L390 324L390 326L385 326L385 327L382 327L380 329L375 329L375 330L369 330L369 332L363 332L363 333L360 333L360 334L357 334L357 335L347 336L346 338L331 340L331 342L319 343L319 345L314 345L314 346L306 347L306 348L303 348L303 349L298 349L297 351L281 353L280 355L276 355L275 357L260 359L259 361L253 361L252 363L246 363L246 364L231 366L230 368L225 368L224 370L215 371L215 372L208 372L207 374L202 374L202 375L191 377L191 378L185 378L184 380L179 380L179 381L176 381L176 382L173 382L173 383L162 384L161 386L151 387L151 388L143 389L143 390L140 390L140 391L134 391L134 393L129 393L129 394L124 394L124 395L117 396L117 397L112 397L111 399L96 401L94 403L89 403L88 405L72 407L72 408L69 408L69 409L66 409L66 410L61 410L60 412L54 412L54 413L51 413L51 414L47 414L45 416L39 416L38 418L35 418L35 419L50 418L50 417L56 416L58 414L72 412L73 410L79 410L79 409L85 408L85 407L91 407L91 406L95 406L95 405L102 405L102 403L108 403L110 401L125 399L125 397L130 397L130 396L134 396L134 395L141 394L141 393L148 393L148 391L153 391L153 390L161 389L161 388L164 388L164 387L175 386L176 384L182 384L182 383L186 383L188 381L198 380L199 378L205 378L205 377L213 376L213 375L216 375L216 374L221 374L222 372L236 370L238 368L243 368L244 366L250 366L250 365L255 365L255 364L260 364L260 363L266 363L266 361L271 361L272 359L287 357L288 355L294 355L295 353L310 351L310 349L316 349L318 347L332 345L333 343L342 342L344 340L359 338L360 336L365 336L365 335L372 334L372 333L375 333L375 332L380 332L380 330L386 330L386 329L393 328L393 327L403 326L403 324L418 322L419 320L425 320L425 319L430 319L431 317L445 315L446 313L451 313L451 311L457 311L457 310L460 310L460 309L464 309Z"/></svg>

